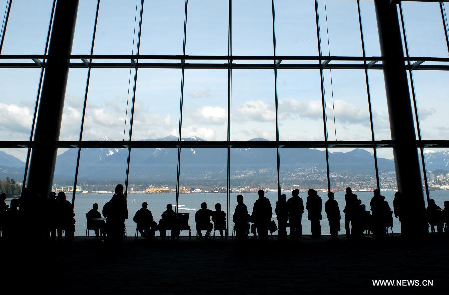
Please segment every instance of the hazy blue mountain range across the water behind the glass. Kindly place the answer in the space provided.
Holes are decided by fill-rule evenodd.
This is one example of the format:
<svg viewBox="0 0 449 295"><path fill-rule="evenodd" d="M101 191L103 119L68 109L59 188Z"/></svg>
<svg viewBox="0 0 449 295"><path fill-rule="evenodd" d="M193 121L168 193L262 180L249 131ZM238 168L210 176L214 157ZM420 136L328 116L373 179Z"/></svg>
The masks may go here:
<svg viewBox="0 0 449 295"><path fill-rule="evenodd" d="M107 139L105 139L107 140ZM173 141L175 137L147 139L147 141ZM203 141L198 137L184 141ZM253 141L266 141L253 139ZM176 183L178 151L176 148L133 148L130 159L130 181L136 183ZM60 185L73 184L77 148L69 148L57 157L54 182ZM81 153L78 179L79 183L101 183L123 181L126 173L127 149L120 148L83 148ZM449 170L449 153L446 151L425 153L428 171ZM326 170L325 152L313 148L281 148L281 174L288 175L314 168ZM230 154L231 179L277 177L275 148L232 148ZM349 152L329 153L330 171L341 175L372 175L374 169L373 154L356 148ZM4 151L0 151L0 178L6 176L21 181L24 163ZM226 148L183 148L181 151L180 182L196 179L197 183L216 182L220 185L227 175ZM378 157L380 173L394 171L394 162ZM189 181L190 181L189 180Z"/></svg>

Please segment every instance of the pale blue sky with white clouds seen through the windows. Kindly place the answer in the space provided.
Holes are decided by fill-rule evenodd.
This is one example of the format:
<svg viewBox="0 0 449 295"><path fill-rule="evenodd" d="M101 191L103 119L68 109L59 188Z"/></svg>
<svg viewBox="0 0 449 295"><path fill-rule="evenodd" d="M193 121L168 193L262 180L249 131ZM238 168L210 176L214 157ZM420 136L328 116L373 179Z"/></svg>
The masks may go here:
<svg viewBox="0 0 449 295"><path fill-rule="evenodd" d="M3 15L6 0L0 0ZM372 1L361 1L367 56L379 56ZM141 54L182 54L184 0L146 0ZM445 4L447 10L449 7ZM51 0L14 0L1 54L42 54ZM323 55L362 56L357 3L320 0ZM80 0L73 54L89 54L96 1ZM140 7L138 7L140 9ZM276 53L317 56L312 0L276 0ZM448 57L438 3L403 3L411 56ZM130 0L102 0L94 54L136 52L136 6ZM327 12L327 18L326 13ZM134 39L134 46L133 46ZM232 54L272 55L271 0L232 2ZM228 54L228 2L189 0L186 54ZM39 69L0 69L0 130L3 140L28 140ZM131 81L134 79L131 73ZM376 139L390 139L382 71L369 70ZM448 139L448 73L414 71L423 139ZM77 140L86 84L86 69L71 69L61 140ZM93 69L88 92L84 140L128 135L131 91L129 69ZM328 137L370 140L365 73L324 71ZM331 83L332 82L332 83ZM227 70L188 69L184 77L182 137L227 139ZM317 70L278 71L279 137L323 140L320 77ZM131 83L132 84L132 83ZM275 139L273 70L233 70L232 139ZM181 70L139 69L133 140L178 135ZM128 108L128 112L126 111ZM334 123L335 128L334 129ZM24 159L23 150L14 155ZM389 152L381 156L391 158Z"/></svg>

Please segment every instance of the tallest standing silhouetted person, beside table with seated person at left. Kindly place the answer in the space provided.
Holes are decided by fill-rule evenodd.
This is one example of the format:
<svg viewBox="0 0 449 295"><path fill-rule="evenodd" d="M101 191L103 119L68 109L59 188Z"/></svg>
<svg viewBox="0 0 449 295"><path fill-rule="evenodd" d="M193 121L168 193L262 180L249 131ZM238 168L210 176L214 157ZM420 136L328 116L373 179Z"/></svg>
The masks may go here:
<svg viewBox="0 0 449 295"><path fill-rule="evenodd" d="M118 245L123 241L125 220L128 219L128 205L123 194L123 185L118 184L115 187L115 194L105 207L103 216L106 217L108 241Z"/></svg>

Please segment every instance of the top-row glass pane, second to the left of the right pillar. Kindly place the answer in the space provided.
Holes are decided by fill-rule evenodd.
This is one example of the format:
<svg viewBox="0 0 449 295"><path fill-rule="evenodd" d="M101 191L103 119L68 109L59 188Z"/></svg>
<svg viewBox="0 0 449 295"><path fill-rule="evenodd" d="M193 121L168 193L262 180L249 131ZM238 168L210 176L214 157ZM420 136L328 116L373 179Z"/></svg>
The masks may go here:
<svg viewBox="0 0 449 295"><path fill-rule="evenodd" d="M318 8L322 55L362 56L357 2L319 0Z"/></svg>

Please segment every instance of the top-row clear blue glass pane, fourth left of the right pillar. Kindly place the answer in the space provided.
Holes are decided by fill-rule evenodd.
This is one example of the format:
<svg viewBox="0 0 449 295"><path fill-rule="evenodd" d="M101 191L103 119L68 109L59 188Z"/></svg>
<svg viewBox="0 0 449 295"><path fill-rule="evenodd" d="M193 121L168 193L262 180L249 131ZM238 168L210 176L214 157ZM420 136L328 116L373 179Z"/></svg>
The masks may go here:
<svg viewBox="0 0 449 295"><path fill-rule="evenodd" d="M271 0L232 1L232 54L273 55Z"/></svg>

